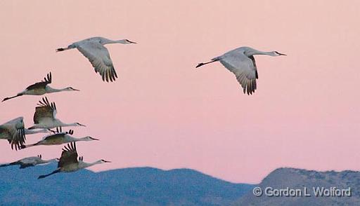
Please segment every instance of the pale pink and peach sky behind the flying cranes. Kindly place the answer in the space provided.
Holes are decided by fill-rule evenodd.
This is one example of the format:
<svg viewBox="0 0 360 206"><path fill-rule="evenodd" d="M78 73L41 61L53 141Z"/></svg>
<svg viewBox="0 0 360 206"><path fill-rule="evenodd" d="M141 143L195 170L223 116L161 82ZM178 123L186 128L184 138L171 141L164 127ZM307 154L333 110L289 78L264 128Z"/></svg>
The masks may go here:
<svg viewBox="0 0 360 206"><path fill-rule="evenodd" d="M58 118L87 125L75 136L101 139L77 144L86 161L113 161L91 170L189 167L248 183L277 167L360 170L360 1L0 1L0 11L0 97L49 71L54 88L82 90L47 96ZM91 36L138 42L107 46L115 83L77 50L55 53ZM194 68L239 46L288 55L255 57L255 95L219 63ZM30 127L40 98L1 103L0 122ZM3 140L0 162L62 147Z"/></svg>

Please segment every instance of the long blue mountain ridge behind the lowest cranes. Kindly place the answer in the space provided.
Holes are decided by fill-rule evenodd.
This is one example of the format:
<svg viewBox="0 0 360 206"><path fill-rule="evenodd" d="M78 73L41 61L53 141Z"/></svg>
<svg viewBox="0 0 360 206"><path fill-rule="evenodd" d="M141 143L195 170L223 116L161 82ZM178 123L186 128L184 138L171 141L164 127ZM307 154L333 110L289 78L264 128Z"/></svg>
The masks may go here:
<svg viewBox="0 0 360 206"><path fill-rule="evenodd" d="M0 205L229 205L252 185L233 184L189 169L134 167L55 174L55 163L0 168Z"/></svg>

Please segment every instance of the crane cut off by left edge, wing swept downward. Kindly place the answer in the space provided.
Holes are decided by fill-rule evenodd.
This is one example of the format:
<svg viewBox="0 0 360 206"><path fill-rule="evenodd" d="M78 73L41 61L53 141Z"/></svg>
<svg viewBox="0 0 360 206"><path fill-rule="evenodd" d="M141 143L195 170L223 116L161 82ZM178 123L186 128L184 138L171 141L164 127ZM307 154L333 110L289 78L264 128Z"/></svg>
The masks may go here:
<svg viewBox="0 0 360 206"><path fill-rule="evenodd" d="M25 144L25 135L49 132L48 130L27 130L25 129L24 118L18 117L3 125L0 125L0 139L7 139L11 149L18 150Z"/></svg>

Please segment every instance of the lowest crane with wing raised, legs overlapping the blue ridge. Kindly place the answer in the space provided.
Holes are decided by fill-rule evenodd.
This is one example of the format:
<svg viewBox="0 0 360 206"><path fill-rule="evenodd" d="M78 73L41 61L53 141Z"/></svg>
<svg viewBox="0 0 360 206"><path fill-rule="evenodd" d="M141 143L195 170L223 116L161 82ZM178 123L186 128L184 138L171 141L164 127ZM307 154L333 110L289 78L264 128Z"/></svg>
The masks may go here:
<svg viewBox="0 0 360 206"><path fill-rule="evenodd" d="M94 163L85 163L82 157L80 157L78 160L76 144L75 142L72 142L68 144L68 146L65 146L65 149L63 149L63 153L61 153L61 157L58 163L58 169L54 170L50 174L40 175L38 179L48 177L51 174L56 174L58 172L75 172L77 170L81 170L86 167L91 167L92 165L97 165L102 163L110 163L110 161L97 160Z"/></svg>

